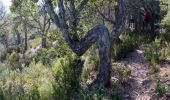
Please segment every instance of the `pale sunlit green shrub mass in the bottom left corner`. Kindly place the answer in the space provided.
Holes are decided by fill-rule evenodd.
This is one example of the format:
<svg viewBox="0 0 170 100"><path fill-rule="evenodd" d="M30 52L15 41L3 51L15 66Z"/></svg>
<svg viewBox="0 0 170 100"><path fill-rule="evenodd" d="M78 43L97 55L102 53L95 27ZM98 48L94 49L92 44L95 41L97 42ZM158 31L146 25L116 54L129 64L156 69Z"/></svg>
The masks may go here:
<svg viewBox="0 0 170 100"><path fill-rule="evenodd" d="M9 71L9 72L8 72ZM31 64L20 71L3 69L0 88L5 100L47 100L53 98L52 70L41 63Z"/></svg>

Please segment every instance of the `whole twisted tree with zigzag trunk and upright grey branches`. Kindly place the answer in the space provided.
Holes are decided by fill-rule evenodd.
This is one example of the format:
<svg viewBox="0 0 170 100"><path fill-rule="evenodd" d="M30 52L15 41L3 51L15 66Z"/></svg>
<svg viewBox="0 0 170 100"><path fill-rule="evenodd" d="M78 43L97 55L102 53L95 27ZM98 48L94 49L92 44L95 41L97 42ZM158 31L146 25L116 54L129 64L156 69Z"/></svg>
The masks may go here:
<svg viewBox="0 0 170 100"><path fill-rule="evenodd" d="M104 25L96 25L89 30L86 35L81 39L71 38L70 28L76 29L81 12L89 2L89 0L82 0L81 3L75 7L75 0L69 0L69 11L66 11L64 0L58 0L58 14L55 13L51 0L45 1L45 10L50 15L53 22L62 32L65 41L78 56L82 56L95 42L98 43L99 49L99 73L96 80L92 84L104 84L105 86L110 84L111 77L111 37L118 35L123 28L125 19L125 3L124 0L117 0L118 6L115 9L116 22L113 27L113 31L109 33L108 29ZM93 1L95 2L95 1ZM66 19L66 12L70 12L70 19ZM69 22L71 23L67 23ZM73 32L73 31L71 31ZM76 30L74 31L76 34Z"/></svg>

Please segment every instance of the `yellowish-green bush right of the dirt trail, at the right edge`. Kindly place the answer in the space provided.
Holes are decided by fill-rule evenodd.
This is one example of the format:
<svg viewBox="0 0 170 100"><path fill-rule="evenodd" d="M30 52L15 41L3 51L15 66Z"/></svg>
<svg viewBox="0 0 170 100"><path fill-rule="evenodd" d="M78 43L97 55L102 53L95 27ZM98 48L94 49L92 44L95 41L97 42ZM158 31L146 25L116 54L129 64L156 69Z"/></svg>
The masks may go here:
<svg viewBox="0 0 170 100"><path fill-rule="evenodd" d="M144 57L152 66L154 72L160 70L159 62L170 56L170 46L162 37L156 37L153 42L147 44Z"/></svg>

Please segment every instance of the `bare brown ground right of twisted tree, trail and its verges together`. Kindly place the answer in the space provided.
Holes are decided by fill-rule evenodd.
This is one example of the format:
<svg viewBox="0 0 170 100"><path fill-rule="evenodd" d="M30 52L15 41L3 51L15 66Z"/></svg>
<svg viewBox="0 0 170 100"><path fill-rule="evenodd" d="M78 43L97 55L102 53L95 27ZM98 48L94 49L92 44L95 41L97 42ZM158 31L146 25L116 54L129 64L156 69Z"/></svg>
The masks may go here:
<svg viewBox="0 0 170 100"><path fill-rule="evenodd" d="M169 74L166 82L170 83L170 64L162 63L160 72L153 74L151 66L144 59L144 48L145 46L141 45L129 53L125 59L113 62L114 72L111 79L113 82L120 79L123 81L119 90L125 100L170 100L168 96L159 98L155 92L155 83L158 78L161 80L165 74ZM123 73L128 73L127 69L129 75L120 74L121 70L126 70Z"/></svg>

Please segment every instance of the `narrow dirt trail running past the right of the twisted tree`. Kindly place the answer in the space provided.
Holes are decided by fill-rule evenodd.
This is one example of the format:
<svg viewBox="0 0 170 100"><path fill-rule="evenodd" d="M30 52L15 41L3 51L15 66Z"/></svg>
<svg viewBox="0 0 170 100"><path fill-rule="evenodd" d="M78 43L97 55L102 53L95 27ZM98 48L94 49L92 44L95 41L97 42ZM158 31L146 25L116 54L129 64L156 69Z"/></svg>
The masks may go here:
<svg viewBox="0 0 170 100"><path fill-rule="evenodd" d="M128 54L122 61L113 64L118 64L119 67L125 65L131 70L129 79L122 87L125 100L154 100L152 99L154 92L150 88L149 80L150 67L144 60L143 45Z"/></svg>

